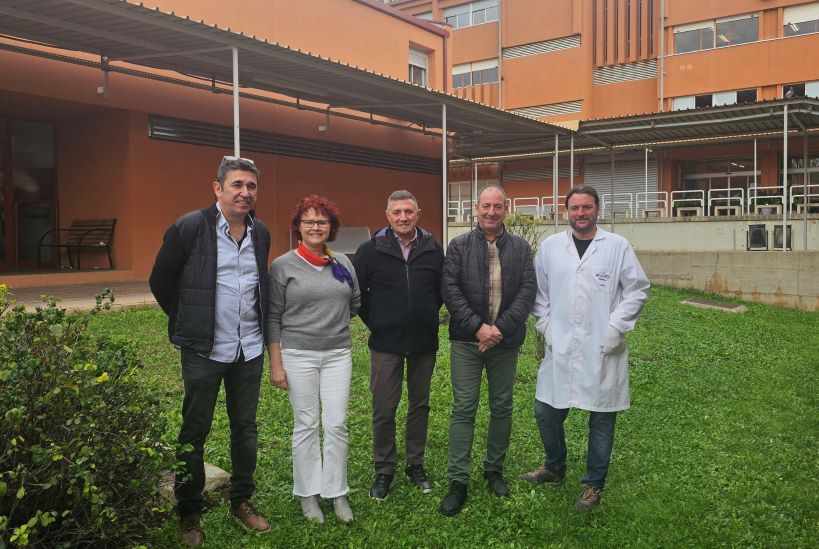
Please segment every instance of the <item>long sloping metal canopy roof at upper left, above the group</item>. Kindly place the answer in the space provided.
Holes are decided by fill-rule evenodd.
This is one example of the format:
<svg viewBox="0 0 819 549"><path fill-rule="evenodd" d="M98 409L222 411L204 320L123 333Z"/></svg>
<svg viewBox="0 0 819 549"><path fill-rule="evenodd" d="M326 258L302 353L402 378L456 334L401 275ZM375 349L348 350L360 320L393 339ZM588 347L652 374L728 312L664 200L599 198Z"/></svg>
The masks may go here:
<svg viewBox="0 0 819 549"><path fill-rule="evenodd" d="M570 130L494 107L192 21L125 0L0 0L0 33L15 39L99 55L103 67L122 62L172 70L218 83L233 80L238 50L240 86L415 124L446 127L459 146L492 153L514 139L537 149ZM295 104L294 104L295 106Z"/></svg>

